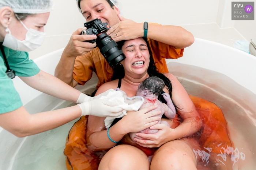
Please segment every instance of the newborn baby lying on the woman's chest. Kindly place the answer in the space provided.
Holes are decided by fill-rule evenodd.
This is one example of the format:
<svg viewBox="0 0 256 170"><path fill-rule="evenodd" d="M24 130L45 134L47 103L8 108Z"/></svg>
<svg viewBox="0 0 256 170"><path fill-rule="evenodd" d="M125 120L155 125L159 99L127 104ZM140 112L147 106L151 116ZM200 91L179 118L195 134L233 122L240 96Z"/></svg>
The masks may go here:
<svg viewBox="0 0 256 170"><path fill-rule="evenodd" d="M139 110L145 107L156 105L158 107L152 111L161 111L161 114L157 116L162 117L162 115L165 114L167 118L173 119L176 115L176 111L172 103L172 100L170 98L170 95L167 93L162 94L163 98L167 102L166 104L158 100L158 96L161 95L161 92L164 87L165 87L165 83L163 82L162 79L158 77L149 77L145 79L142 83L140 83L136 96L142 96L144 98L144 103L142 104ZM159 120L158 124L165 124L166 126L170 127L166 121ZM147 128L140 131L139 133L154 134L157 132L158 130L151 130L150 128ZM135 134L136 132L129 134L132 140L134 137L140 138Z"/></svg>

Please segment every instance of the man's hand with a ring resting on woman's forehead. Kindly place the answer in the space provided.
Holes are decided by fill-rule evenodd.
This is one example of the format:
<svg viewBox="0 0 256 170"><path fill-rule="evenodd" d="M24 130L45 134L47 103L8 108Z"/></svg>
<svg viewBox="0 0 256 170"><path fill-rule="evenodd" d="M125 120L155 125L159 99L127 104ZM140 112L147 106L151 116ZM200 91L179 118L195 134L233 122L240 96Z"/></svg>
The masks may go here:
<svg viewBox="0 0 256 170"><path fill-rule="evenodd" d="M125 19L120 14L118 18L121 22L112 26L107 32L114 41L131 40L144 35L143 23Z"/></svg>

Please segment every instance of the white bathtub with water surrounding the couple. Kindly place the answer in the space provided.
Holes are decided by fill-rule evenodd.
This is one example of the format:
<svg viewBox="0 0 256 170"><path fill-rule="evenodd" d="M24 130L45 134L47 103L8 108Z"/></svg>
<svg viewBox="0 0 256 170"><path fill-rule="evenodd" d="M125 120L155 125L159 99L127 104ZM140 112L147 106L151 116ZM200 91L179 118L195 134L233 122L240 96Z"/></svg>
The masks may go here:
<svg viewBox="0 0 256 170"><path fill-rule="evenodd" d="M60 49L34 61L41 70L53 75L62 52ZM178 77L189 94L214 102L222 109L232 141L240 153L245 154L245 160L234 167L253 169L256 159L256 57L212 41L195 39L182 58L166 62L169 71ZM30 88L19 78L13 81L30 114L72 105ZM85 86L76 88L85 91L95 87L97 82L94 74ZM17 138L0 129L0 170L65 169L65 138L74 122L25 138Z"/></svg>

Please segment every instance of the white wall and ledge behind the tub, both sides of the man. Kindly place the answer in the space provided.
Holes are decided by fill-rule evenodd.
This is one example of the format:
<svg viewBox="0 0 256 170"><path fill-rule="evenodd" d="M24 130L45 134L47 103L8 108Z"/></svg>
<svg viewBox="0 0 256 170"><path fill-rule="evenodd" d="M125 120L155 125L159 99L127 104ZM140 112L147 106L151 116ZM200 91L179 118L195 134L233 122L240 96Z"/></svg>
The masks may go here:
<svg viewBox="0 0 256 170"><path fill-rule="evenodd" d="M249 41L253 35L256 35L256 20L231 21L231 1L119 0L119 7L124 17L136 22L182 25L195 37L232 46L229 39L246 38ZM31 59L65 47L71 34L83 27L83 23L86 22L78 11L76 0L54 0L54 2L54 11L50 13L45 27L47 36L41 47L30 52Z"/></svg>

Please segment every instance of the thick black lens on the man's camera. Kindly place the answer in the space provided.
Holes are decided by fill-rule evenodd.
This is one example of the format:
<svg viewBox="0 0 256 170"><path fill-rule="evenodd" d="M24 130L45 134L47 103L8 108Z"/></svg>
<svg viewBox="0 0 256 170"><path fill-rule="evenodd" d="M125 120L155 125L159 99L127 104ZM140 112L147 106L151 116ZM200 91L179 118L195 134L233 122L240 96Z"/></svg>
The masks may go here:
<svg viewBox="0 0 256 170"><path fill-rule="evenodd" d="M119 64L125 59L123 51L118 48L117 43L107 33L98 35L96 43L110 67Z"/></svg>

